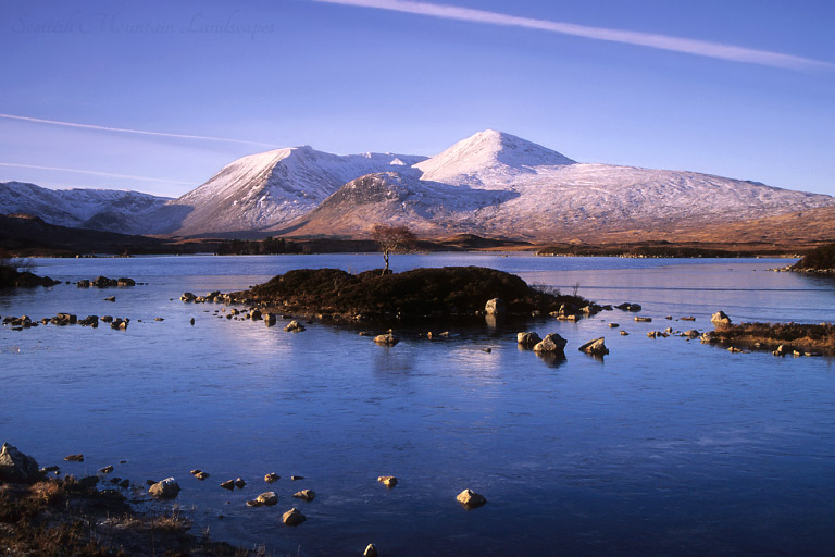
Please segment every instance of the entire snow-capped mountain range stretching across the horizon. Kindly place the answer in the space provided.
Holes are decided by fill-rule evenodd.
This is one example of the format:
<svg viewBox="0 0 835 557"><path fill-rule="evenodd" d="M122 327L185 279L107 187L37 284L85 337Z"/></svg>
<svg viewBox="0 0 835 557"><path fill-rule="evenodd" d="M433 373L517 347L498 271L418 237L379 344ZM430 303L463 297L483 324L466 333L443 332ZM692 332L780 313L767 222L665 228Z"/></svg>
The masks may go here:
<svg viewBox="0 0 835 557"><path fill-rule="evenodd" d="M696 172L587 164L496 131L434 157L311 147L238 159L165 202L111 190L0 188L0 212L130 233L367 237L376 223L426 236L566 239L673 231L835 206L835 198Z"/></svg>

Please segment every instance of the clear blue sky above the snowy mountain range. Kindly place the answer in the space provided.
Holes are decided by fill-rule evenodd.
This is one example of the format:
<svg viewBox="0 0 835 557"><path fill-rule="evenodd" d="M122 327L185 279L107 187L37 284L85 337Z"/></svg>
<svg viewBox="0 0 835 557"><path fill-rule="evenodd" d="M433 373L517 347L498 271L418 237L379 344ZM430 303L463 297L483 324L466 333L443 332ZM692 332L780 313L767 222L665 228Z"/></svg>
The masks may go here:
<svg viewBox="0 0 835 557"><path fill-rule="evenodd" d="M0 113L200 137L0 117L0 181L179 196L271 146L434 154L495 128L835 195L835 3L425 4L5 2Z"/></svg>

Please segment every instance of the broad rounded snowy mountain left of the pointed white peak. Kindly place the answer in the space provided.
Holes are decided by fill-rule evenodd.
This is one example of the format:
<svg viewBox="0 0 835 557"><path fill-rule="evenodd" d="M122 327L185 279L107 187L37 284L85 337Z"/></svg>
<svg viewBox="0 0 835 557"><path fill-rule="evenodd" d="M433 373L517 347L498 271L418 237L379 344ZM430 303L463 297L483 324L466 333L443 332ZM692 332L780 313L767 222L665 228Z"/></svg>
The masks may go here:
<svg viewBox="0 0 835 557"><path fill-rule="evenodd" d="M172 201L190 212L175 231L201 234L250 231L286 223L314 209L342 184L373 172L410 166L424 157L391 153L339 156L308 146L244 157L209 182Z"/></svg>

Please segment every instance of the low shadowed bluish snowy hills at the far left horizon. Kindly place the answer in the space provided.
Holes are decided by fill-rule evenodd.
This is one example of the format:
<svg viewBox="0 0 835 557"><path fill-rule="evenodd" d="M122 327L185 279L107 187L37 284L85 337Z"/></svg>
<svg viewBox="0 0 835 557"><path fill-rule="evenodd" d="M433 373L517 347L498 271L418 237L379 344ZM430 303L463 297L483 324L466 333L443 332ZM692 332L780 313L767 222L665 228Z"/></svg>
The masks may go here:
<svg viewBox="0 0 835 557"><path fill-rule="evenodd" d="M0 183L0 213L26 213L61 226L140 234L147 215L169 197L115 189L47 189L23 182Z"/></svg>

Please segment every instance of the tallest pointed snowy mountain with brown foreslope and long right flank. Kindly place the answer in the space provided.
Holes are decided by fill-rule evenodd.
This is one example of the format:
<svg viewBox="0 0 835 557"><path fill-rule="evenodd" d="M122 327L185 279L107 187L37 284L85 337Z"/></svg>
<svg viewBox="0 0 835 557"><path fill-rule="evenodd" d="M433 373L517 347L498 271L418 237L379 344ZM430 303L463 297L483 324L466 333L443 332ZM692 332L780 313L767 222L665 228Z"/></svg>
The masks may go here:
<svg viewBox="0 0 835 557"><path fill-rule="evenodd" d="M711 225L835 205L830 196L696 172L577 163L495 131L459 141L413 169L421 171L419 177L389 173L356 180L282 232L357 236L373 223L395 222L426 234L553 239Z"/></svg>

